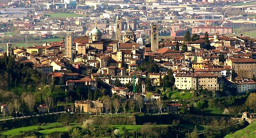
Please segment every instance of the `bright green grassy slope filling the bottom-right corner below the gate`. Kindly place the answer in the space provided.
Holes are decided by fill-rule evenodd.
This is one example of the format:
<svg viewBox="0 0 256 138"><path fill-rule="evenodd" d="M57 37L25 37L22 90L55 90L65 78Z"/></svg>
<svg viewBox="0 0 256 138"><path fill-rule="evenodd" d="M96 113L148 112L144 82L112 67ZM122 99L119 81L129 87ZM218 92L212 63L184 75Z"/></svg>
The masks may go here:
<svg viewBox="0 0 256 138"><path fill-rule="evenodd" d="M256 122L253 122L244 129L238 130L233 134L228 134L224 138L256 138Z"/></svg>

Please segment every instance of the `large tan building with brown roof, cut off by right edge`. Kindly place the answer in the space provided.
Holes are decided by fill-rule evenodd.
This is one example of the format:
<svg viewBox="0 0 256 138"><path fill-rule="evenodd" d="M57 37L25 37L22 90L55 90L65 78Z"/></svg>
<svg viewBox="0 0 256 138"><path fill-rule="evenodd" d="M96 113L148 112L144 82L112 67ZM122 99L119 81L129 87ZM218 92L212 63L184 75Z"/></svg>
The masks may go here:
<svg viewBox="0 0 256 138"><path fill-rule="evenodd" d="M256 59L229 58L224 64L231 66L236 71L238 78L252 78L256 75Z"/></svg>

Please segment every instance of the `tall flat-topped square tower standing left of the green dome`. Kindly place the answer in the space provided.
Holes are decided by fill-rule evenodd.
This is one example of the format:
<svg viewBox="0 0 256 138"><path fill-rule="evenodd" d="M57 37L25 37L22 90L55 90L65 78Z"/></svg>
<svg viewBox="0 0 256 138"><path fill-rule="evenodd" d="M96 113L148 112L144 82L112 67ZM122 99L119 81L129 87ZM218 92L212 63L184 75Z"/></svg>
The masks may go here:
<svg viewBox="0 0 256 138"><path fill-rule="evenodd" d="M66 31L65 54L67 58L73 60L73 31Z"/></svg>

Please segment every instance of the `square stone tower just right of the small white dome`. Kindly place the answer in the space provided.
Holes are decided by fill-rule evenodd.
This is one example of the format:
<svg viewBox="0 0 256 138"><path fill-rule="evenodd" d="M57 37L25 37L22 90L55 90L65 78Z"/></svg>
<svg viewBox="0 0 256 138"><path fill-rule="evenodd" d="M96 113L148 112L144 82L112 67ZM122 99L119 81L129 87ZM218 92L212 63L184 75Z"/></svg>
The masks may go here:
<svg viewBox="0 0 256 138"><path fill-rule="evenodd" d="M158 49L158 25L151 23L151 51Z"/></svg>

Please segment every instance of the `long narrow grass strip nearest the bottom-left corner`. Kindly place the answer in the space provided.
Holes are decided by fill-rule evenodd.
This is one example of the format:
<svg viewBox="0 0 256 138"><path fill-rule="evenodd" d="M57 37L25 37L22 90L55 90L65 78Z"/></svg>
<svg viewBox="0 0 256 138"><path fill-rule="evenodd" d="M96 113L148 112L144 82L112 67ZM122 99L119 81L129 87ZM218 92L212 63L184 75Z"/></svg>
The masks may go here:
<svg viewBox="0 0 256 138"><path fill-rule="evenodd" d="M58 126L58 125L61 125L61 123L55 122L55 123L46 124L45 126L36 125L36 126L20 127L20 128L14 128L11 130L7 130L5 132L2 132L2 134L3 135L17 135L20 133L20 131L29 131L29 130L37 129L38 127L47 129L47 128Z"/></svg>

